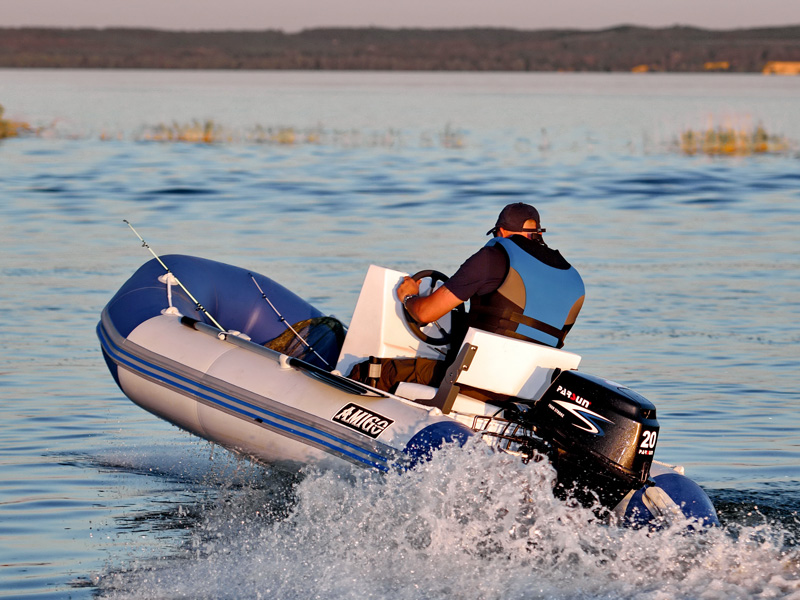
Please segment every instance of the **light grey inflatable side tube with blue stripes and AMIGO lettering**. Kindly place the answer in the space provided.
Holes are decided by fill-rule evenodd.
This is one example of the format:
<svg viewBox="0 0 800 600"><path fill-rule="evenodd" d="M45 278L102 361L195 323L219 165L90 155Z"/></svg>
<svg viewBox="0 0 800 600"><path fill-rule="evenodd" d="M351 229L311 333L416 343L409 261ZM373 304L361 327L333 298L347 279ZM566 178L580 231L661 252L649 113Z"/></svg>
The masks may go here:
<svg viewBox="0 0 800 600"><path fill-rule="evenodd" d="M106 360L133 402L262 462L388 471L424 454L418 446L426 429L427 436L438 432L439 445L472 433L436 409L390 395L348 393L273 351L211 333L169 314L148 319L127 338L107 314L98 325Z"/></svg>

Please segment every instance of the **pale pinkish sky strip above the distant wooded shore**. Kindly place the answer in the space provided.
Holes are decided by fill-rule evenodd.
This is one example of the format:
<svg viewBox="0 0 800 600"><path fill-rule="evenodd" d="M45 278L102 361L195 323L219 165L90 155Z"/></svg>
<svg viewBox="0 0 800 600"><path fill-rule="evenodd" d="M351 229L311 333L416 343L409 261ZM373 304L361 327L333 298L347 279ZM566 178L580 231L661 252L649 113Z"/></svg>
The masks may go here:
<svg viewBox="0 0 800 600"><path fill-rule="evenodd" d="M3 27L181 30L800 25L800 0L0 0Z"/></svg>

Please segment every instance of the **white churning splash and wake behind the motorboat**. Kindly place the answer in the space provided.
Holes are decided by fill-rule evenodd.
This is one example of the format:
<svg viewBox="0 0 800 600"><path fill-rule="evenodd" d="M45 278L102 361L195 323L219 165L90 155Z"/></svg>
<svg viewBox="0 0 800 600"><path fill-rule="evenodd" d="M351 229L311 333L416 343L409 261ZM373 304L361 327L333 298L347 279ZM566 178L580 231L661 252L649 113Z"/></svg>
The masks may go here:
<svg viewBox="0 0 800 600"><path fill-rule="evenodd" d="M98 595L800 598L800 551L779 524L617 528L557 499L554 477L481 444L405 474L266 471L224 486L173 555L97 577Z"/></svg>

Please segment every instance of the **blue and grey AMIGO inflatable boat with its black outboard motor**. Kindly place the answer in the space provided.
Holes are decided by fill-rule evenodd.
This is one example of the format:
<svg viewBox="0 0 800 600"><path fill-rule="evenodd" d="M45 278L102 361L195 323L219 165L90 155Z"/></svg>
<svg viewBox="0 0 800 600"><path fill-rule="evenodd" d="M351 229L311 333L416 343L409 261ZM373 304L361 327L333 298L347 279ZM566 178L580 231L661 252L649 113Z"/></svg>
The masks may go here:
<svg viewBox="0 0 800 600"><path fill-rule="evenodd" d="M654 460L647 399L578 371L580 356L565 350L470 328L449 351L455 317L414 323L395 295L404 275L371 266L345 328L264 275L156 256L105 306L97 335L133 402L257 461L385 472L480 436L520 460L550 460L559 493L599 500L621 523L717 524L703 490ZM362 363L445 356L437 387L390 393L348 377Z"/></svg>

